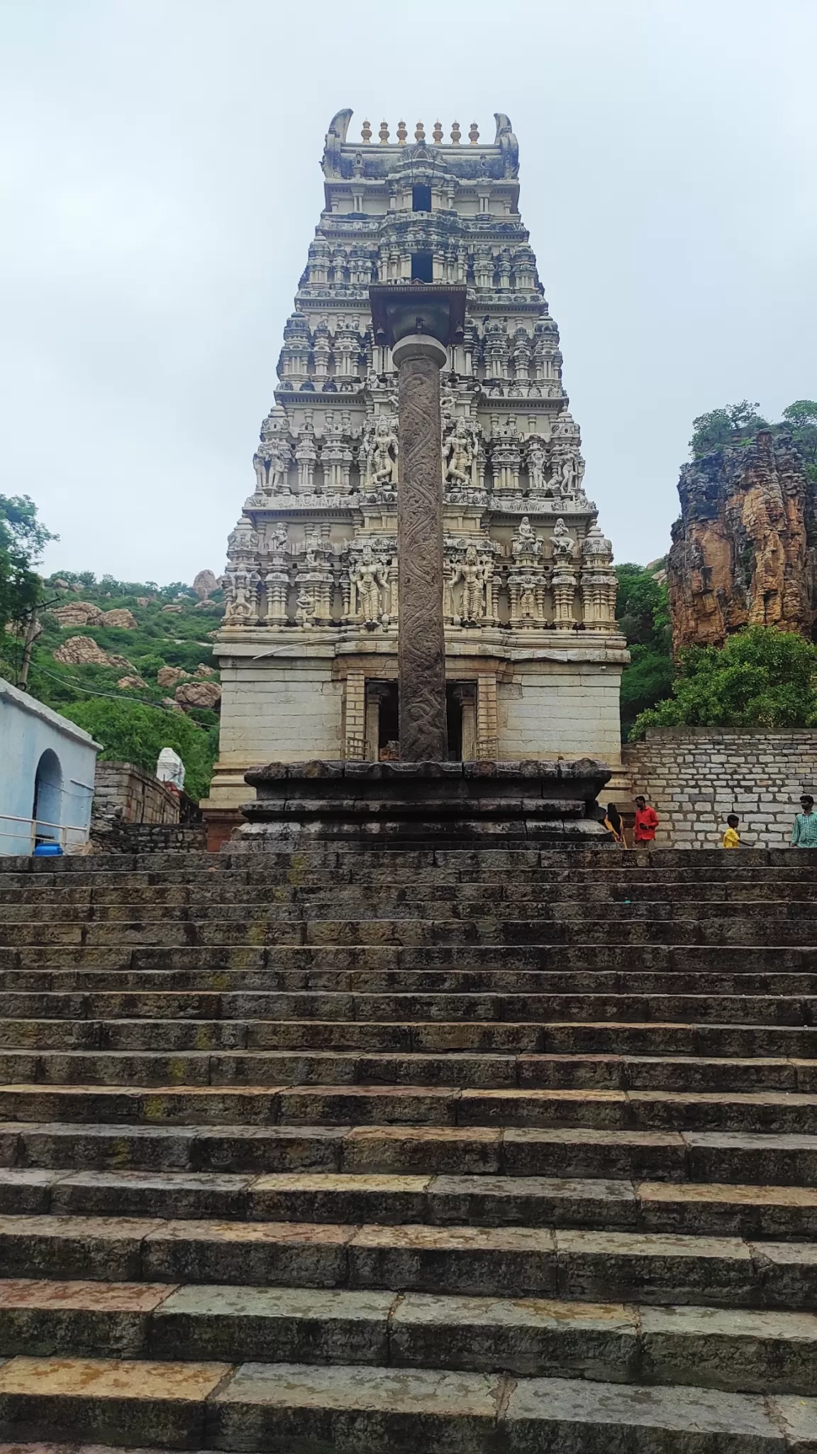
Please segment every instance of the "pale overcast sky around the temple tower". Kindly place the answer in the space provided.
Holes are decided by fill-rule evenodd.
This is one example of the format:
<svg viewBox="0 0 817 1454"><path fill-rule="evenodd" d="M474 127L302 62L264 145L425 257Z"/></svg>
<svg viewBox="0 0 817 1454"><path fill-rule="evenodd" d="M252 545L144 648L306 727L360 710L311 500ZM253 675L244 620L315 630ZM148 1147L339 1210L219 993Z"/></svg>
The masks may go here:
<svg viewBox="0 0 817 1454"><path fill-rule="evenodd" d="M221 570L331 115L509 113L586 487L664 553L695 414L817 397L814 0L0 0L0 491L47 567Z"/></svg>

